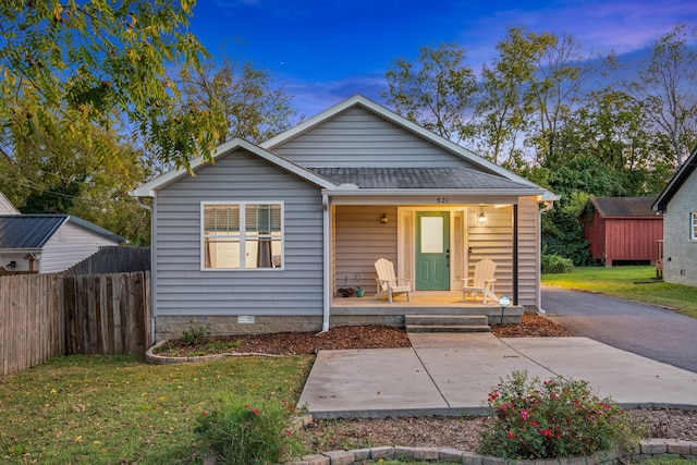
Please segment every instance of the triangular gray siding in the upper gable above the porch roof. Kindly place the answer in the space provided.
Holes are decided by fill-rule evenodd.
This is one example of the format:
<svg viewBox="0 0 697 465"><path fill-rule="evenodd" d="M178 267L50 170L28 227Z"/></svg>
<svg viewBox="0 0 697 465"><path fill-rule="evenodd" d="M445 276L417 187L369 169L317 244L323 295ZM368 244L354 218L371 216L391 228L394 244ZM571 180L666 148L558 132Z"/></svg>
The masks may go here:
<svg viewBox="0 0 697 465"><path fill-rule="evenodd" d="M364 108L352 108L273 151L307 168L476 168Z"/></svg>

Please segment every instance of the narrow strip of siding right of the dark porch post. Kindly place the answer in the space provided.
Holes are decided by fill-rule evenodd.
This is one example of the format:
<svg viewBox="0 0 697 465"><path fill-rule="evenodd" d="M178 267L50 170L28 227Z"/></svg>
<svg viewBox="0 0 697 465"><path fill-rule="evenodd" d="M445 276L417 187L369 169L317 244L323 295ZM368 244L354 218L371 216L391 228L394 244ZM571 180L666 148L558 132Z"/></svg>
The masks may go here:
<svg viewBox="0 0 697 465"><path fill-rule="evenodd" d="M518 304L539 308L538 206L534 197L518 200Z"/></svg>

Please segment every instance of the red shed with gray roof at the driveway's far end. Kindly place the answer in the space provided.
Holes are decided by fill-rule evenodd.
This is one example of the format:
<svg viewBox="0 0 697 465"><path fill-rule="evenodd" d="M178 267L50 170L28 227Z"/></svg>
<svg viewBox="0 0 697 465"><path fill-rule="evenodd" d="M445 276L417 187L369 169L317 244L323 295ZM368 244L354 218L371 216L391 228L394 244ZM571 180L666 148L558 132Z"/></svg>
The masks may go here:
<svg viewBox="0 0 697 465"><path fill-rule="evenodd" d="M663 238L663 217L651 210L653 197L594 197L579 219L597 264L655 264Z"/></svg>

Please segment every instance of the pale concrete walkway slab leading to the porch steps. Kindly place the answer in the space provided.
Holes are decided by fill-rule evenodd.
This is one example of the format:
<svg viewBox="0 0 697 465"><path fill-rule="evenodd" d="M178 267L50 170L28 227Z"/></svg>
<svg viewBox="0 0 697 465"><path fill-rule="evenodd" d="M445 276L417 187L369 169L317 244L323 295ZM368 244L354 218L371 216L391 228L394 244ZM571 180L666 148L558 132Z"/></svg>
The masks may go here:
<svg viewBox="0 0 697 465"><path fill-rule="evenodd" d="M412 348L321 351L298 405L316 418L481 414L500 378L527 370L586 380L625 407L697 408L697 374L587 338L409 339Z"/></svg>

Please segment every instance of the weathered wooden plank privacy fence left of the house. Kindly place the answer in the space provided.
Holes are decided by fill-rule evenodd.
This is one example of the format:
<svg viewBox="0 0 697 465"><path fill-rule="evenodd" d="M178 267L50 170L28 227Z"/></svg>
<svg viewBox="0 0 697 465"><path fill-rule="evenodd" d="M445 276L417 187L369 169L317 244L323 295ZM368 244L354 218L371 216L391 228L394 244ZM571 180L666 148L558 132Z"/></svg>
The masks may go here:
<svg viewBox="0 0 697 465"><path fill-rule="evenodd" d="M63 354L151 345L150 273L0 278L0 356L10 375Z"/></svg>

